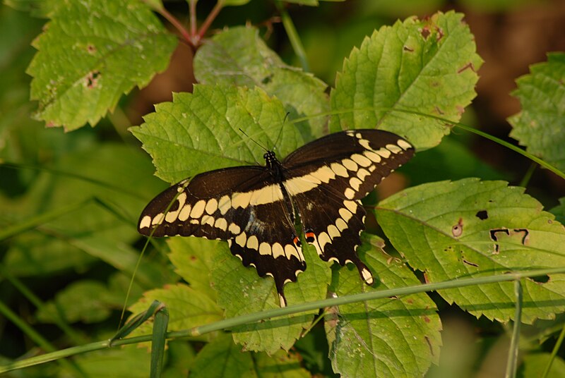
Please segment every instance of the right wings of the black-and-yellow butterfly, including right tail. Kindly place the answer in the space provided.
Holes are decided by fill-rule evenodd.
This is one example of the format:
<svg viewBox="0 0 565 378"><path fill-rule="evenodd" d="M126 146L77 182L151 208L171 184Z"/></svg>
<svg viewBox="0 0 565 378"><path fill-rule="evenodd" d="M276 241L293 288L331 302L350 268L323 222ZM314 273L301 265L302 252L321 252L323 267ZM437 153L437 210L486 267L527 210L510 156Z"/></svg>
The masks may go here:
<svg viewBox="0 0 565 378"><path fill-rule="evenodd" d="M413 154L412 145L393 133L348 130L314 140L283 161L283 183L297 205L306 240L322 260L352 262L362 279L373 283L355 252L366 214L360 200Z"/></svg>

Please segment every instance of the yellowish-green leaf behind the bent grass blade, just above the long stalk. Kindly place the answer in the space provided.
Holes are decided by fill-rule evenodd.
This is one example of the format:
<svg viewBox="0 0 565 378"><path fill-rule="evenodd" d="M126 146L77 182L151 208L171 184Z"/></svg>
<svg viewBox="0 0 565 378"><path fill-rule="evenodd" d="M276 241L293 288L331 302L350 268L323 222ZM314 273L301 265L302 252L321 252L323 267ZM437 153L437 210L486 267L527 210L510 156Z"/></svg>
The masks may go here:
<svg viewBox="0 0 565 378"><path fill-rule="evenodd" d="M133 314L147 310L153 300L165 303L169 310L168 331L190 329L203 324L218 322L222 319L222 310L206 294L195 291L185 284L167 285L143 293L143 298L129 307ZM132 335L151 334L152 324L141 324ZM204 337L203 339L206 339Z"/></svg>

